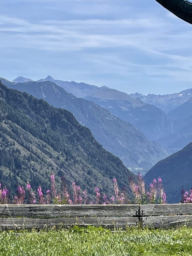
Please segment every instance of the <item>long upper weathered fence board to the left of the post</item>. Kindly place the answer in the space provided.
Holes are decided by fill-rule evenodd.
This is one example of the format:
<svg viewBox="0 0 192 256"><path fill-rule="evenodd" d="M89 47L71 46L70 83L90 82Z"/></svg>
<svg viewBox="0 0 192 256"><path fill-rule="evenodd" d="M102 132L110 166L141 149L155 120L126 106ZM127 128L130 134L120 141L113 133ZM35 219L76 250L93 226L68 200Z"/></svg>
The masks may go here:
<svg viewBox="0 0 192 256"><path fill-rule="evenodd" d="M0 205L1 217L130 217L139 212L140 205Z"/></svg>

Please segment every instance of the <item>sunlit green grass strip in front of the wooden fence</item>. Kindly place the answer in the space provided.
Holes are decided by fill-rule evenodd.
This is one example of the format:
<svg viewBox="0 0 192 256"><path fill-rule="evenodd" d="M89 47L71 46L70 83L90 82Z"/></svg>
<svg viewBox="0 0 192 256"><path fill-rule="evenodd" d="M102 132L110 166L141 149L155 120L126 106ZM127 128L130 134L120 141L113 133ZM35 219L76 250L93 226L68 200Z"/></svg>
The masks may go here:
<svg viewBox="0 0 192 256"><path fill-rule="evenodd" d="M73 228L0 232L1 256L171 256L192 255L192 228L169 230Z"/></svg>

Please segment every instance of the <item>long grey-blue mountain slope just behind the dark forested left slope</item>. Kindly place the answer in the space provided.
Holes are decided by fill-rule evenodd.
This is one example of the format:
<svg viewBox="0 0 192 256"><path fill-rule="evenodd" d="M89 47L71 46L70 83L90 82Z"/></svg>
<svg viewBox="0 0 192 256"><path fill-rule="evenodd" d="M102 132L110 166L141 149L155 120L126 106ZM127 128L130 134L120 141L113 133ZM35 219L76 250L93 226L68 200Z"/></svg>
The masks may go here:
<svg viewBox="0 0 192 256"><path fill-rule="evenodd" d="M53 82L8 83L7 86L73 113L77 121L88 127L95 139L109 152L119 156L127 167L139 167L146 172L170 154L166 148L148 140L132 124L113 116L92 101L76 98Z"/></svg>

